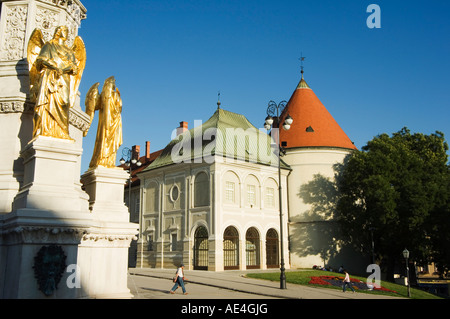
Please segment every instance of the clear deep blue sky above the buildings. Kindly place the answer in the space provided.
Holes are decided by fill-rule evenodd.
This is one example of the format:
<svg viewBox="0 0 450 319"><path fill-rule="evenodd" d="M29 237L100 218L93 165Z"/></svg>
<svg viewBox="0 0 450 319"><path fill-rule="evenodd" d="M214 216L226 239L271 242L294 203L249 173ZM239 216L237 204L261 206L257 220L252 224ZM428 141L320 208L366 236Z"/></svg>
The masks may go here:
<svg viewBox="0 0 450 319"><path fill-rule="evenodd" d="M146 141L163 148L179 122L206 121L219 91L222 108L262 128L268 102L296 88L302 54L307 83L358 148L404 126L450 141L450 1L82 3L82 108L89 87L114 75L123 147L141 145L141 154ZM367 27L369 4L381 9L379 29ZM82 173L96 130L94 120Z"/></svg>

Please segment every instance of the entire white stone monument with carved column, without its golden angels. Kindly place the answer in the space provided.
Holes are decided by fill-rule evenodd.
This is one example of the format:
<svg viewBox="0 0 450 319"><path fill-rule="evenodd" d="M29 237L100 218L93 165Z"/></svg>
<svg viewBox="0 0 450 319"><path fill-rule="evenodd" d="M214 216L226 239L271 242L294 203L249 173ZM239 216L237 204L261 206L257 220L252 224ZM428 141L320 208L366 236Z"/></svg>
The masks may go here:
<svg viewBox="0 0 450 319"><path fill-rule="evenodd" d="M27 43L55 28L78 33L79 0L0 0L0 298L130 298L128 247L137 234L123 203L128 174L99 168L80 181L89 116L79 97L72 140L32 139ZM89 155L88 155L89 156Z"/></svg>

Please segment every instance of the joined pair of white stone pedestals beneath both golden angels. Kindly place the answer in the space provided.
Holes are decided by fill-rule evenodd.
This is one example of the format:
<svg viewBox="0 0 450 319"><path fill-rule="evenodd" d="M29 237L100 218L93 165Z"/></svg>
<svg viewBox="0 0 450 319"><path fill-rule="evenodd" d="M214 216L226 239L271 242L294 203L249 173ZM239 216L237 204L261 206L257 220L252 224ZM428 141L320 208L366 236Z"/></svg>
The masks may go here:
<svg viewBox="0 0 450 319"><path fill-rule="evenodd" d="M128 174L98 168L77 178L81 150L69 140L38 137L21 153L23 187L3 215L0 298L131 298L128 248L138 233L123 203ZM54 247L64 259L57 273L39 264ZM53 264L50 263L50 266ZM42 275L51 289L39 286ZM54 284L53 284L54 283ZM53 285L53 286L52 286Z"/></svg>

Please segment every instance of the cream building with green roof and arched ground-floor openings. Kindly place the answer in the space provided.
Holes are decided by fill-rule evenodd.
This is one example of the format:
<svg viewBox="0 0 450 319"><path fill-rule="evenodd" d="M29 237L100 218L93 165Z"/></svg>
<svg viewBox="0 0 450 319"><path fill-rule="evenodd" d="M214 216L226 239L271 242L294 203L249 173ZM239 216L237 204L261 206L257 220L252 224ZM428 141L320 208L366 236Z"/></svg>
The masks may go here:
<svg viewBox="0 0 450 319"><path fill-rule="evenodd" d="M271 144L244 116L220 108L201 127L169 143L138 174L142 217L137 266L184 263L188 269L213 271L279 267L278 158ZM286 187L289 166L283 163L281 171ZM287 196L282 200L287 207ZM282 225L286 233L286 209Z"/></svg>

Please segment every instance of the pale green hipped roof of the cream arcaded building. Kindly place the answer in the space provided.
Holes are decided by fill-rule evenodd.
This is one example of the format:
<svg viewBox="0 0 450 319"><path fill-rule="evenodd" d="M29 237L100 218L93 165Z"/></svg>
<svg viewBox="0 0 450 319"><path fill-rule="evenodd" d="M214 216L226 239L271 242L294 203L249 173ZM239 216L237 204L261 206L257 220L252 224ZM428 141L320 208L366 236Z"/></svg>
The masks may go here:
<svg viewBox="0 0 450 319"><path fill-rule="evenodd" d="M221 158L277 166L272 142L245 116L218 108L201 126L174 138L144 171L179 163L212 163ZM290 169L283 161L281 167Z"/></svg>

